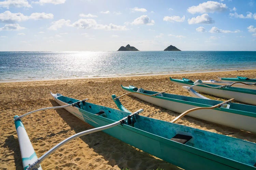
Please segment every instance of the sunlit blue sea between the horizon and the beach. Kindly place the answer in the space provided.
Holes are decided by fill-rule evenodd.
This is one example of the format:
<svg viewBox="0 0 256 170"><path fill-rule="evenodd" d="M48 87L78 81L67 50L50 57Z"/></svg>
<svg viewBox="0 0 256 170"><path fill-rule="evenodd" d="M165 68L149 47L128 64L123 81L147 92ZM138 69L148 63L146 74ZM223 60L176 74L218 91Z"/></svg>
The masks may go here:
<svg viewBox="0 0 256 170"><path fill-rule="evenodd" d="M0 52L0 82L256 68L256 51Z"/></svg>

